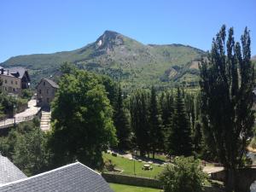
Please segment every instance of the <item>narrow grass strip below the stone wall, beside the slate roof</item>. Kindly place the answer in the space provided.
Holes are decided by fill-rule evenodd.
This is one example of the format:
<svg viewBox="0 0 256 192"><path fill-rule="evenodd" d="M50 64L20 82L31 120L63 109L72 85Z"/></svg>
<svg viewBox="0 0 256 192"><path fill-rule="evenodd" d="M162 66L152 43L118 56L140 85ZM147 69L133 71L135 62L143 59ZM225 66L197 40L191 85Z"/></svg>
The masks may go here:
<svg viewBox="0 0 256 192"><path fill-rule="evenodd" d="M160 192L160 189L143 188L125 184L109 183L114 192Z"/></svg>

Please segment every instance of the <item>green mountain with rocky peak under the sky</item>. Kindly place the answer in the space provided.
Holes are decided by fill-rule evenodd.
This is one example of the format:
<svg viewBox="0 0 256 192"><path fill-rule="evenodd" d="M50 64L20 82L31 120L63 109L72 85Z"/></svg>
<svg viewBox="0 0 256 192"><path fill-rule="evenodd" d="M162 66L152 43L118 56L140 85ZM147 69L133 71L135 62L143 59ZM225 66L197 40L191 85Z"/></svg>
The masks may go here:
<svg viewBox="0 0 256 192"><path fill-rule="evenodd" d="M96 42L80 49L19 55L0 66L26 67L36 84L42 77L54 76L61 63L70 61L79 68L108 74L131 89L151 84L169 86L173 81L195 82L196 61L204 54L201 49L183 44L146 45L118 32L106 31Z"/></svg>

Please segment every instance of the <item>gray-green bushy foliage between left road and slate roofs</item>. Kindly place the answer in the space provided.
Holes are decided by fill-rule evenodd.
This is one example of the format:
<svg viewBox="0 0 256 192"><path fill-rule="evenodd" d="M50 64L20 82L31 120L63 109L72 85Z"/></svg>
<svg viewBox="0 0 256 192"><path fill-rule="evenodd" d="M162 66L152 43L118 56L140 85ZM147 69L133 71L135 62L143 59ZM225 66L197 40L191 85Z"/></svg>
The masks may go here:
<svg viewBox="0 0 256 192"><path fill-rule="evenodd" d="M18 125L8 137L0 137L0 151L27 176L44 172L49 166L47 136L40 130L38 120Z"/></svg>

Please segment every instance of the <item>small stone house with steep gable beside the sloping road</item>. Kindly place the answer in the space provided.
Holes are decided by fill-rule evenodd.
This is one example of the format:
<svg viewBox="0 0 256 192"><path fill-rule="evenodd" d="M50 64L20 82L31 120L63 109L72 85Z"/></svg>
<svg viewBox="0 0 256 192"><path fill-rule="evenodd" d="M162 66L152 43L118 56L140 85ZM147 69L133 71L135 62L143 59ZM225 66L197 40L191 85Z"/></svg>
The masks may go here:
<svg viewBox="0 0 256 192"><path fill-rule="evenodd" d="M37 101L41 108L49 108L59 85L50 79L41 79L37 86Z"/></svg>

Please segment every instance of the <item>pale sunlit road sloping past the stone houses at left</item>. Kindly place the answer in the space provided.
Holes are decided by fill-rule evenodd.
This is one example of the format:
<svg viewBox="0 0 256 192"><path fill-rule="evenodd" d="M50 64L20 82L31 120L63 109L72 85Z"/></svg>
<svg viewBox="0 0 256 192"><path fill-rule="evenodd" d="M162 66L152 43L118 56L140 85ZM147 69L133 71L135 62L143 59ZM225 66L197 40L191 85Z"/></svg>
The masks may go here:
<svg viewBox="0 0 256 192"><path fill-rule="evenodd" d="M40 111L40 108L37 107L36 99L32 99L29 102L27 102L27 106L28 106L28 108L26 108L25 111L23 111L21 113L16 113L15 118L9 118L9 119L4 119L4 120L0 121L0 129L12 126L15 124L15 122L18 124L20 122L31 120Z"/></svg>

